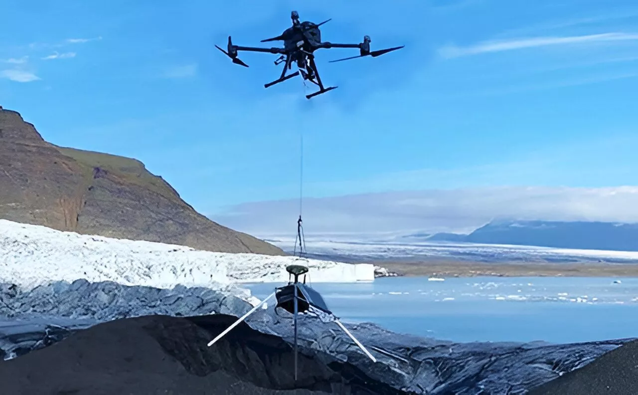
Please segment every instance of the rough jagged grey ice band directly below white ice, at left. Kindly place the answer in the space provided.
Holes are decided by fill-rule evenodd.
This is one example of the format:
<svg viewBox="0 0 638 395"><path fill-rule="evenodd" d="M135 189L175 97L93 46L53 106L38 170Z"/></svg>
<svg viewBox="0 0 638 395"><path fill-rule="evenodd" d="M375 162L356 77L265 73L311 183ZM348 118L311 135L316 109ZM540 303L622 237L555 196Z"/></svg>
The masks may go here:
<svg viewBox="0 0 638 395"><path fill-rule="evenodd" d="M23 289L0 284L0 317L73 318L103 322L140 315L239 314L251 308L242 289L212 290L204 287L153 288L126 286L113 281L73 283L56 281ZM233 294L234 293L234 294Z"/></svg>

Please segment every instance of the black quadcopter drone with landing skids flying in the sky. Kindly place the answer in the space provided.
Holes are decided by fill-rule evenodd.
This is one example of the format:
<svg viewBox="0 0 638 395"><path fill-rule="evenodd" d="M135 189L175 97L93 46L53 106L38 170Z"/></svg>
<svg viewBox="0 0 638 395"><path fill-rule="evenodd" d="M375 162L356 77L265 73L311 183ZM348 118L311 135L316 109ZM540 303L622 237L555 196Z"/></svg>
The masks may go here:
<svg viewBox="0 0 638 395"><path fill-rule="evenodd" d="M261 41L262 43L268 41L283 41L283 48L241 47L239 45L234 45L230 36L228 36L227 50L223 50L218 47L218 45L215 45L215 47L226 54L226 56L230 57L233 63L244 67L248 67L248 64L244 63L241 59L239 59L239 57L237 57L238 51L279 54L279 57L276 61L274 61L274 64L278 65L280 63L284 63L281 76L268 84L264 84L263 87L267 88L274 84L279 84L279 82L283 82L301 74L304 78L304 82L308 80L319 87L319 90L315 93L306 95L306 98L308 99L313 98L318 94L332 91L332 89L336 88L336 86L323 86L315 63L315 50L318 50L319 48L359 48L359 55L329 61L329 63L334 63L364 56L377 57L404 47L404 45L401 45L400 47L370 51L370 36L364 36L363 42L359 44L339 44L330 43L329 41L321 41L321 31L319 27L332 19L324 20L320 24L315 24L309 21L299 22L299 13L297 13L297 11L292 11L292 13L290 13L290 18L292 19L292 27L288 27L288 29L279 36L267 38ZM292 69L293 63L297 63L297 68L299 70L286 75L286 71Z"/></svg>

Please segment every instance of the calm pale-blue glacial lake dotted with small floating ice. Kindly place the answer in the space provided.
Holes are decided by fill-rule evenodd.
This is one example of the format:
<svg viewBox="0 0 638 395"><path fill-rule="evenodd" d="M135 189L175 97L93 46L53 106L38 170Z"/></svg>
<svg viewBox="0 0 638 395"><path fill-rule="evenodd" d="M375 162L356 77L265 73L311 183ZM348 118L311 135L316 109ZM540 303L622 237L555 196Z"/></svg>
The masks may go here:
<svg viewBox="0 0 638 395"><path fill-rule="evenodd" d="M380 278L316 283L346 322L453 341L571 343L638 337L638 278ZM266 297L281 283L248 285Z"/></svg>

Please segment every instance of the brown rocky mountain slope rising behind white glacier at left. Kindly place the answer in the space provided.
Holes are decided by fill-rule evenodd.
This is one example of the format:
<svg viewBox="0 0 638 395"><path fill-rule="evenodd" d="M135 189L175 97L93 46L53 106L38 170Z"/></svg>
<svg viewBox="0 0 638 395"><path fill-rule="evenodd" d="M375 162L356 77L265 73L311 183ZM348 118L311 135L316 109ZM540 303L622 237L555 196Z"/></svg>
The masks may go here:
<svg viewBox="0 0 638 395"><path fill-rule="evenodd" d="M140 161L50 144L2 107L0 218L199 250L284 254L199 214Z"/></svg>

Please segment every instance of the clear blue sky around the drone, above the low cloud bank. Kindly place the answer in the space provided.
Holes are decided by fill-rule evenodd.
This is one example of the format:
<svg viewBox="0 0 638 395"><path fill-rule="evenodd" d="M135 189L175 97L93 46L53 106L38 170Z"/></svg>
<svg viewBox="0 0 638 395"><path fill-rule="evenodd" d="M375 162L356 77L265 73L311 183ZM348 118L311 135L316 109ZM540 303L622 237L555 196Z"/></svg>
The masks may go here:
<svg viewBox="0 0 638 395"><path fill-rule="evenodd" d="M0 104L54 144L144 161L198 211L247 230L276 227L246 211L255 202L286 200L294 221L301 131L316 202L635 184L635 1L397 4L4 0ZM297 78L263 88L276 56L242 54L242 68L213 46L228 34L262 45L291 10L332 18L325 41L406 47L335 64L356 50L318 52L339 88L308 101Z"/></svg>

